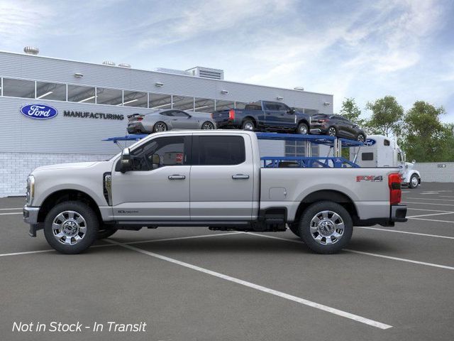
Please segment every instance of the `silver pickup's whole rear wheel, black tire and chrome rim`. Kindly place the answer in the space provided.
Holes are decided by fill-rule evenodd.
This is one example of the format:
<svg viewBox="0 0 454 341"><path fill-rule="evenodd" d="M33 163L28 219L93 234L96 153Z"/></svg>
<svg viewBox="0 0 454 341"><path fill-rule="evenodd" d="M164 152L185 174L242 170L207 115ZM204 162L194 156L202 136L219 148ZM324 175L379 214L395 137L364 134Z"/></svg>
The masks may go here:
<svg viewBox="0 0 454 341"><path fill-rule="evenodd" d="M350 242L352 234L352 218L336 202L314 202L301 215L299 235L317 254L335 254Z"/></svg>

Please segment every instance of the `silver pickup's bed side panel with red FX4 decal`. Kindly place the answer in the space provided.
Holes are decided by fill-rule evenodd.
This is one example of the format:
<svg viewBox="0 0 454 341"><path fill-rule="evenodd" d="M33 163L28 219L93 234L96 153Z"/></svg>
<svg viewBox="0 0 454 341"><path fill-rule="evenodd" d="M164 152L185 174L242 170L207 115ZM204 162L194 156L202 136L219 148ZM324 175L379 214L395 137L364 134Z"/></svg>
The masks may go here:
<svg viewBox="0 0 454 341"><path fill-rule="evenodd" d="M288 202L292 220L301 201L319 191L335 191L355 205L360 220L389 217L388 175L398 168L261 168L260 210Z"/></svg>

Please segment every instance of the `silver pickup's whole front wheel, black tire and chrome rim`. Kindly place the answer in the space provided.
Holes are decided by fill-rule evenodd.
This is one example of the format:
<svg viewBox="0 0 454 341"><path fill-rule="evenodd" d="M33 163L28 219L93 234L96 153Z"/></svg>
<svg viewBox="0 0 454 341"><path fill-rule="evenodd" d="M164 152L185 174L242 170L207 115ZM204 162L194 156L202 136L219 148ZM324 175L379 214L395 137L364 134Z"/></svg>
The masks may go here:
<svg viewBox="0 0 454 341"><path fill-rule="evenodd" d="M98 217L79 201L61 202L48 212L44 235L51 247L62 254L79 254L96 240Z"/></svg>

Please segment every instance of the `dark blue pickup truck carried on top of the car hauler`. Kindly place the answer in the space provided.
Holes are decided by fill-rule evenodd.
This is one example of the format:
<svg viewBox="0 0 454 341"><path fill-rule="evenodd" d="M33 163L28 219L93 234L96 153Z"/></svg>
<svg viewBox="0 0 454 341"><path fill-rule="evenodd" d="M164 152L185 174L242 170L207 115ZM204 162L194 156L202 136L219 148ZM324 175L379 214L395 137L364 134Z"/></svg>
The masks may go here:
<svg viewBox="0 0 454 341"><path fill-rule="evenodd" d="M226 109L214 112L211 118L218 129L236 128L250 131L285 131L309 134L311 116L281 102L258 101L244 109Z"/></svg>

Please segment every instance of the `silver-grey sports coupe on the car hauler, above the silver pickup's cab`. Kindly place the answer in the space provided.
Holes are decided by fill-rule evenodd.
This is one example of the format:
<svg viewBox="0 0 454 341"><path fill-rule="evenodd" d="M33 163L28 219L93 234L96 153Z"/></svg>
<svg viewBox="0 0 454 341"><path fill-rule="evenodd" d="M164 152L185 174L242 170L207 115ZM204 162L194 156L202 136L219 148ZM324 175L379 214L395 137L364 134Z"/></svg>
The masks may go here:
<svg viewBox="0 0 454 341"><path fill-rule="evenodd" d="M177 109L156 110L128 116L128 134L151 134L172 129L216 129L209 114Z"/></svg>

